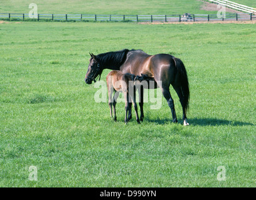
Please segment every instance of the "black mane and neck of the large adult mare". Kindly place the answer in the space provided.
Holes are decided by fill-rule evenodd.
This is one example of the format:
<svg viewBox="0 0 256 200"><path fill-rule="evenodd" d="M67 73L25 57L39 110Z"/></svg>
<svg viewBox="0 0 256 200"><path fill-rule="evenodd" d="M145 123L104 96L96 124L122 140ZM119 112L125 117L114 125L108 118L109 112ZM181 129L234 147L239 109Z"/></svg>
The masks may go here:
<svg viewBox="0 0 256 200"><path fill-rule="evenodd" d="M110 51L97 55L97 60L105 67L119 68L126 60L129 49L123 49L121 51Z"/></svg>

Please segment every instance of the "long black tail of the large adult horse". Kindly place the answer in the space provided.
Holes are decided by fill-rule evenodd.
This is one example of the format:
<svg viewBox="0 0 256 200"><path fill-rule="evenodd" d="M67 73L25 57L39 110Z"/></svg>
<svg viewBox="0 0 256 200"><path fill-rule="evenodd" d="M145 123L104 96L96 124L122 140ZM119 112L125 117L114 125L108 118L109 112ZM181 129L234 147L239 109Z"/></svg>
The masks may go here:
<svg viewBox="0 0 256 200"><path fill-rule="evenodd" d="M185 66L181 59L173 58L178 68L179 73L181 74L181 91L184 96L184 109L185 112L189 109L189 83L188 83L188 75L186 73Z"/></svg>

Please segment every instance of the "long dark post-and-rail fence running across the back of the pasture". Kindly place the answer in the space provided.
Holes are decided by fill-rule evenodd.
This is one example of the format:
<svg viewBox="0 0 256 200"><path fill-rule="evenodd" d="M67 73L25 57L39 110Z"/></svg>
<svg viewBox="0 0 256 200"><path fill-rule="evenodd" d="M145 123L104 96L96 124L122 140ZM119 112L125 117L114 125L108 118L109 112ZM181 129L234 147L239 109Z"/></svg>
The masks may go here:
<svg viewBox="0 0 256 200"><path fill-rule="evenodd" d="M169 15L117 15L117 14L29 14L0 13L1 20L46 20L46 21L136 21L136 22L182 22L182 21L252 21L256 20L255 14L235 13L226 14L218 18L216 14L191 14L191 19L186 19L181 14Z"/></svg>

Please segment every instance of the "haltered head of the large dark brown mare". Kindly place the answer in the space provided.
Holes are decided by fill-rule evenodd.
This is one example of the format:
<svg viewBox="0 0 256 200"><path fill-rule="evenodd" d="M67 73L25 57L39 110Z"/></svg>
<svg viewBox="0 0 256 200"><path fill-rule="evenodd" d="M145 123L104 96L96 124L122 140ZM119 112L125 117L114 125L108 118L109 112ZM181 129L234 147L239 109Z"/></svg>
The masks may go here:
<svg viewBox="0 0 256 200"><path fill-rule="evenodd" d="M92 81L96 82L97 77L100 77L102 73L102 69L100 68L100 63L97 56L93 54L90 54L90 56L90 63L88 65L88 70L85 75L85 83L87 84L92 84Z"/></svg>

